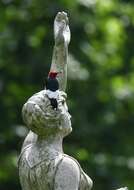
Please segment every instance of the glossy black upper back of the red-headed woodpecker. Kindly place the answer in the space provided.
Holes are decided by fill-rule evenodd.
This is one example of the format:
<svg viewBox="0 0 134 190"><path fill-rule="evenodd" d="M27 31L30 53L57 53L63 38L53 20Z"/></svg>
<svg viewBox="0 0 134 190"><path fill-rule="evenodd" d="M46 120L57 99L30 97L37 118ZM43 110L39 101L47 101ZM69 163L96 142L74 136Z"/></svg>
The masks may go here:
<svg viewBox="0 0 134 190"><path fill-rule="evenodd" d="M56 91L59 89L59 83L56 78L50 78L48 77L46 80L46 89L51 91Z"/></svg>

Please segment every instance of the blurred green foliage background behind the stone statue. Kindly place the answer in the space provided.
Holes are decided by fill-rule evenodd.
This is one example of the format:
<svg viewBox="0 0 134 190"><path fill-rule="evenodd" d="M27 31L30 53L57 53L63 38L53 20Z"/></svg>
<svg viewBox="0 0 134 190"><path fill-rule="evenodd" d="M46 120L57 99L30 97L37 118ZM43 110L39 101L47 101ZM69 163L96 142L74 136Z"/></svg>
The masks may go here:
<svg viewBox="0 0 134 190"><path fill-rule="evenodd" d="M17 158L26 135L25 101L44 87L53 20L70 18L66 153L94 189L134 188L134 2L0 0L0 190L20 190Z"/></svg>

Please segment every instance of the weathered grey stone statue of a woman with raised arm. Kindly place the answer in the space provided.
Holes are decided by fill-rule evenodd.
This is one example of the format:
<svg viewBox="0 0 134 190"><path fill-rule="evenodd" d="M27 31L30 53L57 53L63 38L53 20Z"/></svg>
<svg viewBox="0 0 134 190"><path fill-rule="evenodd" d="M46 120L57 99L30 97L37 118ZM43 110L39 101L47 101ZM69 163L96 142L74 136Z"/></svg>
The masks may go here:
<svg viewBox="0 0 134 190"><path fill-rule="evenodd" d="M80 164L63 153L63 138L72 131L65 93L67 56L70 42L68 17L59 12L54 21L55 45L50 71L59 72L58 109L54 110L46 89L24 104L23 120L30 130L19 157L23 190L90 190L92 180Z"/></svg>

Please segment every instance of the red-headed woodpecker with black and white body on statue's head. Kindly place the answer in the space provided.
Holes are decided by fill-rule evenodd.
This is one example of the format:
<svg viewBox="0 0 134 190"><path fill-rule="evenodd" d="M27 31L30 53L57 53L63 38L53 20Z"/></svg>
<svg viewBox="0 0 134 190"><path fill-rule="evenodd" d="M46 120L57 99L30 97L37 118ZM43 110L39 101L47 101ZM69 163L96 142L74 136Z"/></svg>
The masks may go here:
<svg viewBox="0 0 134 190"><path fill-rule="evenodd" d="M53 109L57 110L57 98L59 96L59 83L56 78L58 72L50 71L46 80L46 94L50 100Z"/></svg>

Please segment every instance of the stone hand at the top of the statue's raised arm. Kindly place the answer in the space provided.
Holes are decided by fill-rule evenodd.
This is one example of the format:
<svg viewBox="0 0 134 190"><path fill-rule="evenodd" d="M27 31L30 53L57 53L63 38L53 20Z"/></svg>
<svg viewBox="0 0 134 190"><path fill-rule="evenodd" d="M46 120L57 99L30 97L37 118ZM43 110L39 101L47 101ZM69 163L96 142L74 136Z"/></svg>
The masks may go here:
<svg viewBox="0 0 134 190"><path fill-rule="evenodd" d="M55 43L66 43L70 42L70 29L67 13L58 12L54 21L54 38Z"/></svg>

